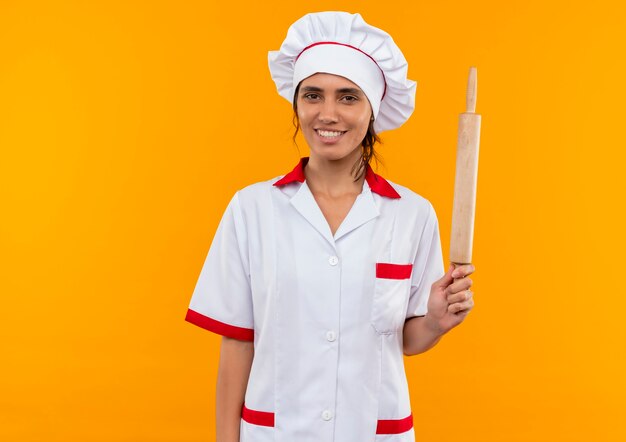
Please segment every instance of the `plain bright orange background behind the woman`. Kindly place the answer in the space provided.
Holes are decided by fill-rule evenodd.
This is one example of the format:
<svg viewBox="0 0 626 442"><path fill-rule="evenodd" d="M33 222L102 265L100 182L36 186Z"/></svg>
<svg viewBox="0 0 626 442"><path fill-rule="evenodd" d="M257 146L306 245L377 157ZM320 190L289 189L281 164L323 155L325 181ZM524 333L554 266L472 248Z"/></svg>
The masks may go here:
<svg viewBox="0 0 626 442"><path fill-rule="evenodd" d="M446 257L478 67L476 306L407 359L417 440L626 440L623 5L4 0L0 440L213 440L219 338L185 312L232 194L307 153L267 51L328 9L409 60L378 172Z"/></svg>

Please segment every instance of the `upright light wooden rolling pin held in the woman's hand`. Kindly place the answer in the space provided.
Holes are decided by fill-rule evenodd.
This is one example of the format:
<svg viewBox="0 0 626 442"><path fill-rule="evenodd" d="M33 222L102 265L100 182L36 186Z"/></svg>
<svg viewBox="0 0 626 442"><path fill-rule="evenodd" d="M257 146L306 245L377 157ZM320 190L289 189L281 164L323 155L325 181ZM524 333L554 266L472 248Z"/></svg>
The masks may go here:
<svg viewBox="0 0 626 442"><path fill-rule="evenodd" d="M476 110L476 68L471 67L467 82L467 110L459 116L456 153L450 261L455 267L472 262L480 114Z"/></svg>

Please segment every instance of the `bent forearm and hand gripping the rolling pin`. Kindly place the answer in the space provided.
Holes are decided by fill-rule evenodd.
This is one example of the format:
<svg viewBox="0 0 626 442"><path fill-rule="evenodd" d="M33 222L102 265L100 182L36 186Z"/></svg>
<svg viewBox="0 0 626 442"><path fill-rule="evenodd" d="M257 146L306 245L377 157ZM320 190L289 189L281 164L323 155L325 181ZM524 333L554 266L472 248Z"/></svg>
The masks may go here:
<svg viewBox="0 0 626 442"><path fill-rule="evenodd" d="M404 323L403 351L407 356L423 353L439 342L441 337L459 325L474 306L469 290L474 266L450 266L441 279L435 281L428 298L428 313ZM455 278L457 280L455 281Z"/></svg>

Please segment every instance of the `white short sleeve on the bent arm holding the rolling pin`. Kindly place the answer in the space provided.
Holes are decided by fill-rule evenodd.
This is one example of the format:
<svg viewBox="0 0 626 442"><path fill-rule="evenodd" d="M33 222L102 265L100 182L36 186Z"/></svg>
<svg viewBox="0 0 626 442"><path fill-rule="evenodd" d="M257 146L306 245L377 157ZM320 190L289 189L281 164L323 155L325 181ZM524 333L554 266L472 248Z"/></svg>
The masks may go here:
<svg viewBox="0 0 626 442"><path fill-rule="evenodd" d="M424 316L428 311L428 298L432 284L444 274L439 222L432 204L428 205L428 218L417 246L411 274L411 295L406 318Z"/></svg>

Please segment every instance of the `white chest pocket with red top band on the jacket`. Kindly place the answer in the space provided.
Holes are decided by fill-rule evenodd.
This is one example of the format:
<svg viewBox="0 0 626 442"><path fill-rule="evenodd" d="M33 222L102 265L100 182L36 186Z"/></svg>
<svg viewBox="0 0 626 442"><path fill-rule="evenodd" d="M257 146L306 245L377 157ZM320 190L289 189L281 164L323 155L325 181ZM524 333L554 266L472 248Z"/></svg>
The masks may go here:
<svg viewBox="0 0 626 442"><path fill-rule="evenodd" d="M376 263L376 281L372 300L372 326L379 334L402 330L413 264Z"/></svg>

